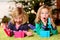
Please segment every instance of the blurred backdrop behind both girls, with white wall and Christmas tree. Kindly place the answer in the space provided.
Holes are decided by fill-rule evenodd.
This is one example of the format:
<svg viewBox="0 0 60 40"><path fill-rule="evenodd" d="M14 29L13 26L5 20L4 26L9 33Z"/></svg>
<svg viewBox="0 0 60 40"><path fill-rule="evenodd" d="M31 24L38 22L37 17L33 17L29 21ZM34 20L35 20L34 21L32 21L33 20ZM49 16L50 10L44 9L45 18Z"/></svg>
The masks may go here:
<svg viewBox="0 0 60 40"><path fill-rule="evenodd" d="M60 0L0 0L0 24L10 20L10 13L16 3L23 4L23 9L29 15L29 23L34 25L37 10L42 5L50 6L56 25L60 25Z"/></svg>

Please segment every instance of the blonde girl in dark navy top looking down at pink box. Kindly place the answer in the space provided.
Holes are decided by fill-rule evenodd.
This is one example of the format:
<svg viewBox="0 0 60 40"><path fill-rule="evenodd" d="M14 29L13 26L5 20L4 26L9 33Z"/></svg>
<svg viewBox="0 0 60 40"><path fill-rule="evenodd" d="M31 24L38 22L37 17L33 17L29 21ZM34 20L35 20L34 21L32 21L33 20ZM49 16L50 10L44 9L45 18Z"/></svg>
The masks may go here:
<svg viewBox="0 0 60 40"><path fill-rule="evenodd" d="M28 31L28 15L24 12L23 8L19 7L18 5L17 8L14 9L10 14L11 20L8 23L8 29L12 30L12 33L14 33L14 31L21 30L24 31L25 35L31 36L32 33Z"/></svg>

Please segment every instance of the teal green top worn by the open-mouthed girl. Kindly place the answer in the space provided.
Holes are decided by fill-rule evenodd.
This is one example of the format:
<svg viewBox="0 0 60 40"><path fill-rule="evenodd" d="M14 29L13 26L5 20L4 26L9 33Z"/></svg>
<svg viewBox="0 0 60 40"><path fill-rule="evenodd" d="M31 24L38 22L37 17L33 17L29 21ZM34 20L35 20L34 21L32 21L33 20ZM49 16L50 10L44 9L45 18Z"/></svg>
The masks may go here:
<svg viewBox="0 0 60 40"><path fill-rule="evenodd" d="M49 30L48 31L50 31L50 33L52 33L52 34L57 34L58 33L58 31L57 31L57 29L53 29L53 26L52 26L52 24L51 24L51 22L50 22L50 20L49 20L49 18L48 18L48 28L49 28ZM42 21L40 21L40 23L35 23L35 26L36 26L36 33L37 34L40 34L40 31L46 31L46 30L44 30L43 28L42 28L42 26L43 26L44 24L43 24L43 22Z"/></svg>

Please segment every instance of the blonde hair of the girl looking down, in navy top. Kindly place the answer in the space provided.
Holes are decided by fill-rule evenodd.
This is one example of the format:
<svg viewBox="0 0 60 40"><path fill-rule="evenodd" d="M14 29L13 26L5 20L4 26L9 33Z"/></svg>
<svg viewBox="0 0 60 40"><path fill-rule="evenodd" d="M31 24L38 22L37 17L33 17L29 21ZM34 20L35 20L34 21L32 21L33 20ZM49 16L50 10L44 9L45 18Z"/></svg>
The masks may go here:
<svg viewBox="0 0 60 40"><path fill-rule="evenodd" d="M21 12L20 12L20 11L21 11ZM17 17L17 16L19 16L20 18L23 19L23 20L22 20L22 21L23 21L22 24L28 22L28 15L25 13L25 11L24 11L22 8L16 8L16 9L14 9L14 10L11 12L10 15L11 15L11 22L12 22L13 24L15 24L14 18Z"/></svg>

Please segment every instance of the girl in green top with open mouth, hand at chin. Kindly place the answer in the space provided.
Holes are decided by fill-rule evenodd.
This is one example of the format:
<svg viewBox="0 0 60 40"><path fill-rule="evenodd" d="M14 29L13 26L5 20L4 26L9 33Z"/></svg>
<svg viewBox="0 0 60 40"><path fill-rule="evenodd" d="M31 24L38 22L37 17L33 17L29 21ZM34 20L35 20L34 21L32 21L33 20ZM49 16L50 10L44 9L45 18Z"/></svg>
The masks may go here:
<svg viewBox="0 0 60 40"><path fill-rule="evenodd" d="M52 9L47 5L43 5L38 9L35 19L36 33L40 35L40 31L50 31L57 34L56 26L53 22Z"/></svg>

